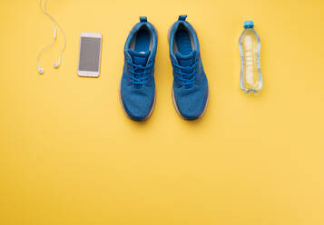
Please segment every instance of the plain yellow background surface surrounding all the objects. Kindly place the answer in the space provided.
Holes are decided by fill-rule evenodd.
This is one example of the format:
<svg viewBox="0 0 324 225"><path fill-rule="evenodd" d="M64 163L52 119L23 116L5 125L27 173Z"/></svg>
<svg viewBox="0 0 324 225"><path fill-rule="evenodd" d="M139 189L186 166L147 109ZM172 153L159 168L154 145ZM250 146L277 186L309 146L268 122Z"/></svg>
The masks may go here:
<svg viewBox="0 0 324 225"><path fill-rule="evenodd" d="M324 3L296 0L0 1L1 225L324 224ZM172 105L167 31L197 29L210 82L207 112ZM123 44L147 15L159 32L157 103L123 113ZM240 89L239 36L255 21L264 88ZM103 34L99 79L77 76L81 32Z"/></svg>

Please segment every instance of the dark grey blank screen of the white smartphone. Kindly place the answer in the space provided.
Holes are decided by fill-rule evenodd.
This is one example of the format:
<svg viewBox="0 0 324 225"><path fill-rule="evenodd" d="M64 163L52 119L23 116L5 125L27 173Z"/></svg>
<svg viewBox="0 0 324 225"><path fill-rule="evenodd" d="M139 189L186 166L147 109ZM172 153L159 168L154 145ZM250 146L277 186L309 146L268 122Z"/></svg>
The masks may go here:
<svg viewBox="0 0 324 225"><path fill-rule="evenodd" d="M101 38L81 37L79 71L99 72L101 44Z"/></svg>

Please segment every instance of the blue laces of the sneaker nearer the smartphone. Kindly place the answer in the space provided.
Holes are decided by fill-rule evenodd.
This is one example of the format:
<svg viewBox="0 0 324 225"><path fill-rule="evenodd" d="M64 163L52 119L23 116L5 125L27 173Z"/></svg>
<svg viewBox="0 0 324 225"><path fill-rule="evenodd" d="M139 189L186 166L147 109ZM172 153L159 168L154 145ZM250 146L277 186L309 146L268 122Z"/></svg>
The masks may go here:
<svg viewBox="0 0 324 225"><path fill-rule="evenodd" d="M145 66L141 64L133 64L132 61L126 60L131 65L129 71L132 73L130 83L133 84L145 84L148 81L148 73L151 71L152 63Z"/></svg>

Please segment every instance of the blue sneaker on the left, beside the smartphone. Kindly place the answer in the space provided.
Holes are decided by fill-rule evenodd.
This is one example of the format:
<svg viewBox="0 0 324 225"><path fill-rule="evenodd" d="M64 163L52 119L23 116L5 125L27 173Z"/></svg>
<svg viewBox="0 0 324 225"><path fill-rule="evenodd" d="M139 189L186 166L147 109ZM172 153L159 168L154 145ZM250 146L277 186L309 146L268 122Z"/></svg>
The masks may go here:
<svg viewBox="0 0 324 225"><path fill-rule="evenodd" d="M154 61L157 34L146 17L140 17L128 35L123 54L120 97L123 111L133 120L148 118L155 104Z"/></svg>

